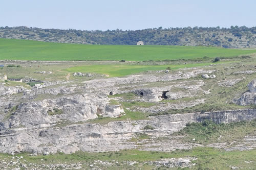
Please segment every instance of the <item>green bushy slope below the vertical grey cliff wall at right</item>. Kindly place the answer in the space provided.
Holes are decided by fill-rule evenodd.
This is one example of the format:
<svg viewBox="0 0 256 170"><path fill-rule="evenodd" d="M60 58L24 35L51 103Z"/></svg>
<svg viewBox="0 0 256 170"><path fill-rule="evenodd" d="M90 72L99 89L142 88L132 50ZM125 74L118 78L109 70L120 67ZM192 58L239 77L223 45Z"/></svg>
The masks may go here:
<svg viewBox="0 0 256 170"><path fill-rule="evenodd" d="M200 144L227 142L243 140L244 136L256 133L256 119L250 122L238 122L229 124L215 124L210 120L203 123L191 123L176 132L176 134L186 135L184 140ZM195 140L193 141L193 139Z"/></svg>

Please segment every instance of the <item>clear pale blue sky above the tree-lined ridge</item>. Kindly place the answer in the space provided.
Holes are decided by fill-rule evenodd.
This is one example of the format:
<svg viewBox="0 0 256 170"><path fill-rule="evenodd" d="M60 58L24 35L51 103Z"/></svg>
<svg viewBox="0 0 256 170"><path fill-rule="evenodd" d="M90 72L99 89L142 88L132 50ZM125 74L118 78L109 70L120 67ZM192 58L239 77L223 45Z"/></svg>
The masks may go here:
<svg viewBox="0 0 256 170"><path fill-rule="evenodd" d="M256 26L255 0L0 0L0 26L76 30Z"/></svg>

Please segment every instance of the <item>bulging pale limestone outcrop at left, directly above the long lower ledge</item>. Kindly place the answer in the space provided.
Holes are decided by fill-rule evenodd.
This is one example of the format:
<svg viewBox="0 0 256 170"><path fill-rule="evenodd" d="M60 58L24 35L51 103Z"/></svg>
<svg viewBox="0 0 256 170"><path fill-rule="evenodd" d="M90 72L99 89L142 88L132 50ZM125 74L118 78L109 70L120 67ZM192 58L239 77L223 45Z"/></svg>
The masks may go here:
<svg viewBox="0 0 256 170"><path fill-rule="evenodd" d="M49 127L56 122L80 122L98 116L118 117L122 113L122 106L109 105L109 99L105 94L73 94L21 103L9 117L5 117L7 120L4 121L5 127L2 129Z"/></svg>

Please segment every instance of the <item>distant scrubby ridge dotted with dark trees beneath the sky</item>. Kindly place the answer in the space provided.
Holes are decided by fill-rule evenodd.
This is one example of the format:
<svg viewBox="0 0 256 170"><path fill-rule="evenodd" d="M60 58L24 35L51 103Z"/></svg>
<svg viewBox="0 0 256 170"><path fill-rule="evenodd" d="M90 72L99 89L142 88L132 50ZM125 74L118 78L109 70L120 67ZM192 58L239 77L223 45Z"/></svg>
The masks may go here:
<svg viewBox="0 0 256 170"><path fill-rule="evenodd" d="M256 48L256 27L230 28L168 28L162 27L123 31L82 31L40 29L28 27L1 27L0 38L27 39L47 42L79 44L135 45L142 40L146 45L203 45L225 48Z"/></svg>

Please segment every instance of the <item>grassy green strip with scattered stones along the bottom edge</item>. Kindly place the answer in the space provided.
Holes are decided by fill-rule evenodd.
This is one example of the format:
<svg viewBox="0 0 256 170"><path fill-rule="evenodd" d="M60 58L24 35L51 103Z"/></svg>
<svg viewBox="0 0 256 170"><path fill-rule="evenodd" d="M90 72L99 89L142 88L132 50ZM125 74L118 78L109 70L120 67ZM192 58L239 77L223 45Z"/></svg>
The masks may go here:
<svg viewBox="0 0 256 170"><path fill-rule="evenodd" d="M243 169L253 169L256 167L256 150L250 151L230 151L226 152L224 150L202 147L194 148L192 150L177 150L175 152L155 152L155 151L139 151L139 150L122 150L119 152L101 152L101 153L92 153L92 152L76 152L72 154L63 154L58 153L49 156L28 156L27 153L17 154L16 156L23 156L23 159L20 159L20 162L23 163L26 160L26 163L36 163L36 164L60 164L60 163L81 163L83 164L84 169L90 168L90 163L93 163L95 160L101 161L118 161L119 165L115 167L109 167L111 169L134 169L137 165L122 167L122 161L137 161L142 163L142 166L139 169L153 169L153 166L148 164L143 164L144 161L157 161L160 159L167 158L186 158L186 157L195 157L197 160L193 161L196 163L195 166L191 168L182 168L182 169L231 169L231 166L234 167L243 167ZM12 160L12 155L0 154L0 157L5 160ZM54 161L54 162L53 162ZM138 167L137 167L138 168ZM102 169L104 169L102 167ZM165 169L162 167L160 169ZM181 168L174 168L181 169Z"/></svg>

